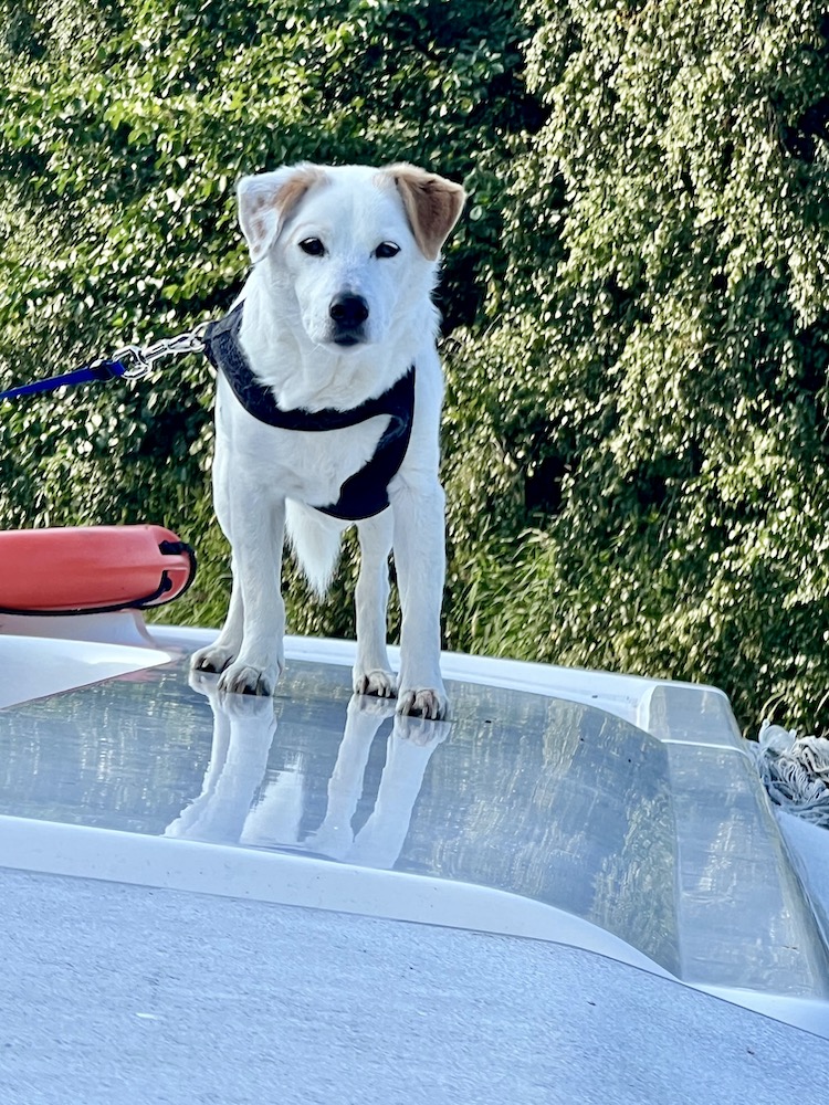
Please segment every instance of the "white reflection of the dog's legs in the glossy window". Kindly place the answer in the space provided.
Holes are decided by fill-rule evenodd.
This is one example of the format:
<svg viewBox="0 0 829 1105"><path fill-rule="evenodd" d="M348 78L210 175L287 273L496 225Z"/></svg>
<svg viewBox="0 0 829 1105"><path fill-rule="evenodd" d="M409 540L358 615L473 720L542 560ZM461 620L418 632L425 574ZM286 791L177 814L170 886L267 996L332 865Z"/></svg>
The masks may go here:
<svg viewBox="0 0 829 1105"><path fill-rule="evenodd" d="M449 723L395 714L393 699L354 695L328 780L325 817L315 832L303 834L308 796L301 753L256 801L277 726L291 722L277 719L270 697L221 693L216 678L198 673L190 683L210 703L213 743L201 793L168 825L166 836L287 846L360 866L395 865L427 766L449 735ZM377 798L368 820L355 833L351 822L363 797L371 745L389 717L393 717L393 728Z"/></svg>

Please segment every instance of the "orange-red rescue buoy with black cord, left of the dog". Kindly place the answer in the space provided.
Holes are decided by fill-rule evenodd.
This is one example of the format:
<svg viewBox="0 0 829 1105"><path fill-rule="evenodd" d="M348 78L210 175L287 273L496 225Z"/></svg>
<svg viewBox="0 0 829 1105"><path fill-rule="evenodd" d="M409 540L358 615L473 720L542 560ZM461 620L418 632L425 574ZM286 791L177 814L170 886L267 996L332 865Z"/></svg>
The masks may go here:
<svg viewBox="0 0 829 1105"><path fill-rule="evenodd" d="M0 533L0 611L99 613L158 607L196 575L189 545L161 526L77 526Z"/></svg>

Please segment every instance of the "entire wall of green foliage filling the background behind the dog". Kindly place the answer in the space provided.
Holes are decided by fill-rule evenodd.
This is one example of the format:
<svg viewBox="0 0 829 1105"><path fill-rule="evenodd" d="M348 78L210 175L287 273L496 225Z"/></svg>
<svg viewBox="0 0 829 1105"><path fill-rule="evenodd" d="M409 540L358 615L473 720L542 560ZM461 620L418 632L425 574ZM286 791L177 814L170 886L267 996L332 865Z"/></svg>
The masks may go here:
<svg viewBox="0 0 829 1105"><path fill-rule="evenodd" d="M219 312L232 185L463 178L447 256L447 640L829 687L829 20L811 0L0 0L4 380ZM3 412L0 519L165 520L216 622L203 364ZM342 586L294 628L350 629Z"/></svg>

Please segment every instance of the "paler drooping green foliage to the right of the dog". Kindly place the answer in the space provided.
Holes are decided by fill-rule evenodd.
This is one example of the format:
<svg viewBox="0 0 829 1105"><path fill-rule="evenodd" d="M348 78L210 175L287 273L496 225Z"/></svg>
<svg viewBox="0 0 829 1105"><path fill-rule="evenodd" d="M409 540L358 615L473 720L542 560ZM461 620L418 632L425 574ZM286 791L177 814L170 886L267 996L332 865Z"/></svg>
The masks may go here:
<svg viewBox="0 0 829 1105"><path fill-rule="evenodd" d="M506 301L453 362L486 473L455 495L487 504L484 533L455 518L455 578L486 611L459 643L707 680L753 725L825 725L829 21L532 7L549 118L513 176Z"/></svg>

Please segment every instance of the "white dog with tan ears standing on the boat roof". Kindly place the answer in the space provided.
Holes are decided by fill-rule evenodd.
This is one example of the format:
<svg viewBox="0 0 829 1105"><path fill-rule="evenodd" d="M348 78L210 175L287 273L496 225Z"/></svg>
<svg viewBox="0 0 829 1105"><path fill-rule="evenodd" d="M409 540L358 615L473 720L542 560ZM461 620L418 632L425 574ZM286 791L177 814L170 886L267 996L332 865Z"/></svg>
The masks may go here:
<svg viewBox="0 0 829 1105"><path fill-rule="evenodd" d="M354 688L440 718L443 392L431 293L464 191L409 165L300 165L239 185L253 271L207 335L218 366L216 512L232 549L230 609L192 659L219 690L269 695L284 667L284 532L324 593L356 522ZM402 608L386 650L388 558Z"/></svg>

